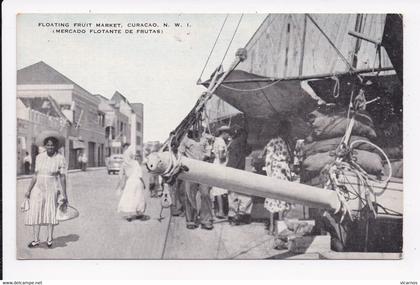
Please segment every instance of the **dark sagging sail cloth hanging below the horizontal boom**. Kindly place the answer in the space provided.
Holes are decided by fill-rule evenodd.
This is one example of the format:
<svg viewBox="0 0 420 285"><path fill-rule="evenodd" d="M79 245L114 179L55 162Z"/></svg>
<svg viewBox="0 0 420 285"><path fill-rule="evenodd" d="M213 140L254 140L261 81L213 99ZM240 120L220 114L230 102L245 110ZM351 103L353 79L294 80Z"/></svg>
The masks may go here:
<svg viewBox="0 0 420 285"><path fill-rule="evenodd" d="M267 141L277 135L280 120L292 124L292 136L305 137L310 131L305 114L314 110L319 98L299 80L268 81L269 78L242 70L234 70L215 95L233 106L231 114L242 112L247 118L248 144L263 148ZM262 80L262 81L261 81ZM228 83L239 81L237 83ZM204 83L207 85L208 81ZM218 100L209 101L208 109L217 109ZM220 102L219 102L220 103ZM223 104L222 104L223 105Z"/></svg>

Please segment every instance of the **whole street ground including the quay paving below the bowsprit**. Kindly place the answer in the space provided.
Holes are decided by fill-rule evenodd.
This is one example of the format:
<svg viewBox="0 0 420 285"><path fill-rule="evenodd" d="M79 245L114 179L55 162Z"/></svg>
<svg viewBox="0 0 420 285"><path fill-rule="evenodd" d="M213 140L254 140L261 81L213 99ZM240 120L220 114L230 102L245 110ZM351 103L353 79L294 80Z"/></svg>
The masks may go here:
<svg viewBox="0 0 420 285"><path fill-rule="evenodd" d="M151 199L148 189L149 219L127 222L117 213L118 175L108 175L105 169L69 173L69 202L80 216L55 227L52 248L46 245L46 227L42 227L43 243L30 249L32 228L24 225L19 210L29 181L17 181L18 259L262 259L284 253L273 249L273 238L262 223L230 226L222 220L212 231L188 230L185 217L171 218L168 209L159 222L160 199ZM147 174L145 182L148 185Z"/></svg>

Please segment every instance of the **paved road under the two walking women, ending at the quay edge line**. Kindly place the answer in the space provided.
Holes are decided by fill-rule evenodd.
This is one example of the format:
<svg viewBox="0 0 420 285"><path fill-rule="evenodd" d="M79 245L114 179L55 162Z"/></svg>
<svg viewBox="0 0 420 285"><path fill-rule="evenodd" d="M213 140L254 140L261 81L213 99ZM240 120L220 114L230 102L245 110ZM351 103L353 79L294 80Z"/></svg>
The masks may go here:
<svg viewBox="0 0 420 285"><path fill-rule="evenodd" d="M29 249L32 228L24 225L24 214L17 213L17 257L20 259L160 259L168 230L169 218L157 220L159 200L148 197L147 221L127 222L116 209L117 175L105 169L69 174L70 204L80 211L77 219L60 223L54 231L54 245L43 243ZM146 177L147 180L147 177ZM17 181L17 207L23 200L29 179ZM147 183L146 183L147 184ZM146 191L149 193L149 191ZM168 211L164 215L168 217ZM46 240L46 228L41 229Z"/></svg>

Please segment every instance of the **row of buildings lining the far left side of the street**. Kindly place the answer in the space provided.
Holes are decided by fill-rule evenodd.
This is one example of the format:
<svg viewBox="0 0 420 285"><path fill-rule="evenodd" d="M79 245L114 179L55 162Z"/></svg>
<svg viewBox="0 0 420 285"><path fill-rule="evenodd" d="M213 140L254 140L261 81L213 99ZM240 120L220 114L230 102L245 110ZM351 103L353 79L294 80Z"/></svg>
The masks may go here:
<svg viewBox="0 0 420 285"><path fill-rule="evenodd" d="M42 61L17 72L17 120L18 174L26 152L33 160L37 154L36 135L47 129L66 137L69 169L80 167L83 153L88 167L104 166L125 143L143 156L143 104L130 104L118 91L111 99L93 95Z"/></svg>

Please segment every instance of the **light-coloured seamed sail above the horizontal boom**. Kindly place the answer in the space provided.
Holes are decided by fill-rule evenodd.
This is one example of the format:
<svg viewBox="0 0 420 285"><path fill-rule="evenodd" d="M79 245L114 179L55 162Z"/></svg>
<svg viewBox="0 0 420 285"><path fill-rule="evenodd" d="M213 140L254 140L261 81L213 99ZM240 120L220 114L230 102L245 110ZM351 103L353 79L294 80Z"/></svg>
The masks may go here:
<svg viewBox="0 0 420 285"><path fill-rule="evenodd" d="M348 34L356 31L381 42L386 14L310 16L356 70L392 66L384 48L379 60L374 44ZM268 15L245 48L248 59L238 69L262 76L285 78L348 71L346 63L305 14Z"/></svg>

